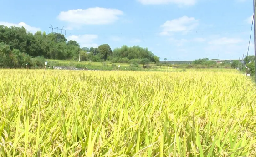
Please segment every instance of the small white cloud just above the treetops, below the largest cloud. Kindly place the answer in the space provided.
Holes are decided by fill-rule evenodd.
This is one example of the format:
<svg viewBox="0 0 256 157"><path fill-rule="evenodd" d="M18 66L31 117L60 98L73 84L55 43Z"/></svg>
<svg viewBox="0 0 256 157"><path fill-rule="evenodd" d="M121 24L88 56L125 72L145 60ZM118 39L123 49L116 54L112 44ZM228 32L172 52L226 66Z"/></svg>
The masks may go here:
<svg viewBox="0 0 256 157"><path fill-rule="evenodd" d="M98 35L85 34L85 35L71 35L67 37L67 40L77 41L80 47L98 47L98 44L94 41L98 38Z"/></svg>

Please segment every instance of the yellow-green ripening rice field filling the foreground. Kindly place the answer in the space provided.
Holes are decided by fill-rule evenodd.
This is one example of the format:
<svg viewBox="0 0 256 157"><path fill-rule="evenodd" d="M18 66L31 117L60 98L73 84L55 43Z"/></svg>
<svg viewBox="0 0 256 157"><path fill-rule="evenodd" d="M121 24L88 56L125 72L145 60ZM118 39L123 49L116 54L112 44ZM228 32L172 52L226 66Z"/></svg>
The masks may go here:
<svg viewBox="0 0 256 157"><path fill-rule="evenodd" d="M235 70L0 70L0 157L255 157Z"/></svg>

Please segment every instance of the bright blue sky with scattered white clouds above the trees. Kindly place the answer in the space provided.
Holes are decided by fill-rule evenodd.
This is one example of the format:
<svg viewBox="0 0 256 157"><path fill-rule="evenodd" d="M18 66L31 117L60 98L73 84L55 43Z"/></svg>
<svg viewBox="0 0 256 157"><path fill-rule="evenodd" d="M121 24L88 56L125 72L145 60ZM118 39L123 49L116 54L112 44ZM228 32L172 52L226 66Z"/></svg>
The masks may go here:
<svg viewBox="0 0 256 157"><path fill-rule="evenodd" d="M0 4L0 25L46 33L51 25L64 26L67 39L80 46L139 45L169 61L242 57L253 14L253 0L0 0ZM253 43L252 37L249 55L254 54Z"/></svg>

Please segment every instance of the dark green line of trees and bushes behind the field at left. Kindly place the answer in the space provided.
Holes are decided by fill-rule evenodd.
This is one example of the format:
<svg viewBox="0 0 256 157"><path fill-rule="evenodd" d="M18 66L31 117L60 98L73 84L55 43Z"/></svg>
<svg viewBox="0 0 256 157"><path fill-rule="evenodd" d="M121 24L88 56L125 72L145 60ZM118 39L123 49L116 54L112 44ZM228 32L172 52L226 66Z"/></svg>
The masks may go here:
<svg viewBox="0 0 256 157"><path fill-rule="evenodd" d="M37 31L32 34L24 27L5 27L0 25L0 67L19 68L26 63L41 66L44 59L139 64L157 63L159 57L147 48L122 46L112 51L108 44L97 48L80 47L77 41L67 41L60 33ZM40 64L39 64L40 63Z"/></svg>

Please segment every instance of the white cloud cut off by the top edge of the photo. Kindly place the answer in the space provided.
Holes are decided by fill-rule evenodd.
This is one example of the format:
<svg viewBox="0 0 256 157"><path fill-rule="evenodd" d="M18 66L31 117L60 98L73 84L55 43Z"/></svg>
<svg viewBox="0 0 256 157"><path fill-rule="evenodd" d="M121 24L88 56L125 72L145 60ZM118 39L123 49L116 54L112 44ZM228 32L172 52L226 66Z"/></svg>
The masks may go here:
<svg viewBox="0 0 256 157"><path fill-rule="evenodd" d="M194 5L197 0L137 0L143 5L157 5L174 3L178 5Z"/></svg>

